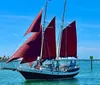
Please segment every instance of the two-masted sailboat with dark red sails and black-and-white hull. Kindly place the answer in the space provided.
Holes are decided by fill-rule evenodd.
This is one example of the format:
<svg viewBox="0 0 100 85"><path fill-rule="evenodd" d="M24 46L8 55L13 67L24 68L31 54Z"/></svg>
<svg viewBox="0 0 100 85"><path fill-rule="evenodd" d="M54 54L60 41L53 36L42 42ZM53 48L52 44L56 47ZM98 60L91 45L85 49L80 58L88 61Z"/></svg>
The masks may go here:
<svg viewBox="0 0 100 85"><path fill-rule="evenodd" d="M48 0L46 2L46 8L47 3ZM30 64L31 67L29 69L24 69L24 67L18 67L16 69L25 79L73 78L79 73L79 66L72 61L69 65L67 63L63 65L60 61L62 58L66 62L69 57L77 58L76 21L73 21L61 30L59 48L57 50L56 17L44 29L45 24L43 26L41 24L42 11L40 10L38 16L24 34L26 36L32 32L32 35L12 55L7 63L22 58L20 64Z"/></svg>

